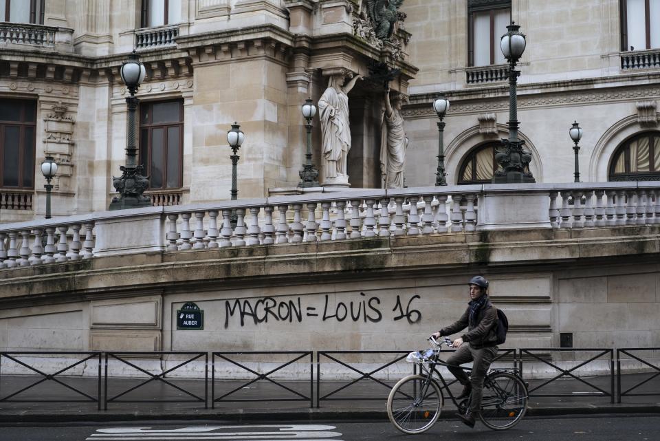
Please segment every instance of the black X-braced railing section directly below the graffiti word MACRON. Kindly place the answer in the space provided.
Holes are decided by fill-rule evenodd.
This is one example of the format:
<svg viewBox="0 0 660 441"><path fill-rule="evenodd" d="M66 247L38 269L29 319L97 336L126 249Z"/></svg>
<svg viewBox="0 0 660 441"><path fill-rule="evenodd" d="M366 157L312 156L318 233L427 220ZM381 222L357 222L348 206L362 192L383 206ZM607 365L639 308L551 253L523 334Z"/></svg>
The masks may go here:
<svg viewBox="0 0 660 441"><path fill-rule="evenodd" d="M238 361L232 360L232 358L230 358L235 356L253 356L253 355L267 355L267 356L287 355L287 356L294 356L294 358L292 360L279 363L278 365L276 365L274 368L270 369L267 372L256 372L256 370L243 364L246 362L239 363ZM239 367L241 370L245 372L250 372L250 374L254 375L255 378L253 378L252 380L248 380L247 383L243 383L238 387L234 387L230 391L224 392L218 398L215 398L216 357L221 358L222 360L231 363L236 367ZM292 365L293 363L296 363L300 360L303 360L303 358L306 357L309 357L309 396L301 393L300 391L296 391L292 387L288 387L283 383L283 380L274 380L274 378L272 378L272 375L275 374L276 372L281 372L285 367ZM265 398L263 398L262 396L254 396L251 398L237 397L237 393L239 391L242 391L246 387L249 387L250 385L257 383L258 381L261 380L265 380L271 383L272 385L276 385L280 389L287 391L286 394L287 396L285 397L269 396L267 398L268 401L309 401L309 407L314 407L314 357L312 352L311 351L305 351L305 352L268 351L268 352L213 352L212 369L211 369L211 408L214 409L215 403L220 401L225 401L225 402L264 401Z"/></svg>

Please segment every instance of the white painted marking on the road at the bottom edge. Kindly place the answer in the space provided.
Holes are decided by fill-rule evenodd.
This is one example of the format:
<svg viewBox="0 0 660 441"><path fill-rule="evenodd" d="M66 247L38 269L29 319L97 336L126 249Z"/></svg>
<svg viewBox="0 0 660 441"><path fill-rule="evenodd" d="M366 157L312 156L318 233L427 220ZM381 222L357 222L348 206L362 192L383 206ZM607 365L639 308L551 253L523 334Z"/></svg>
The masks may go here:
<svg viewBox="0 0 660 441"><path fill-rule="evenodd" d="M189 426L179 429L151 427L111 427L97 429L87 441L129 440L259 440L259 441L341 441L334 426L318 424L260 424L250 426ZM329 439L332 438L332 439Z"/></svg>

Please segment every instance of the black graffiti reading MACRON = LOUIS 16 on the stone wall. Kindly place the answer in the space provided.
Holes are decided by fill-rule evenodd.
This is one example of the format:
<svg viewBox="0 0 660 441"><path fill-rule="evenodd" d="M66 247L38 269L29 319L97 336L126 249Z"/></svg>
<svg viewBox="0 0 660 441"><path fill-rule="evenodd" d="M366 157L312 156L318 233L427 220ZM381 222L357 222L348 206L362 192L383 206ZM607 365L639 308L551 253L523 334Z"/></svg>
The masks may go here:
<svg viewBox="0 0 660 441"><path fill-rule="evenodd" d="M358 299L332 304L330 296L325 294L322 308L306 305L304 309L303 299L305 297L289 300L278 300L274 297L226 300L225 329L230 323L240 323L241 327L244 327L250 324L268 323L268 321L302 323L303 320L317 317L324 322L346 320L378 323L384 319L384 312L389 310L395 314L392 317L393 321L406 319L412 325L421 320L421 312L412 307L413 301L421 299L418 294L403 299L397 294L393 305L385 305L378 297L368 298L364 292L360 292Z"/></svg>

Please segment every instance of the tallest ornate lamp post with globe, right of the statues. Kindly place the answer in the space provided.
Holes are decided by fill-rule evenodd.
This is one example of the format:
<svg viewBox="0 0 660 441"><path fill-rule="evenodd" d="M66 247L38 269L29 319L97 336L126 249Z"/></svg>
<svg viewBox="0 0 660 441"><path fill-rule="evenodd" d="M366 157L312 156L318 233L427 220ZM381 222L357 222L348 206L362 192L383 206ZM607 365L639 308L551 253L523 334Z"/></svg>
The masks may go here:
<svg viewBox="0 0 660 441"><path fill-rule="evenodd" d="M496 153L495 160L501 169L495 172L493 182L506 184L514 182L536 182L528 171L531 155L522 149L524 140L518 138L518 97L517 80L520 72L516 63L525 52L525 35L518 32L520 26L511 22L509 32L502 36L500 48L509 61L509 139L503 139L504 150Z"/></svg>

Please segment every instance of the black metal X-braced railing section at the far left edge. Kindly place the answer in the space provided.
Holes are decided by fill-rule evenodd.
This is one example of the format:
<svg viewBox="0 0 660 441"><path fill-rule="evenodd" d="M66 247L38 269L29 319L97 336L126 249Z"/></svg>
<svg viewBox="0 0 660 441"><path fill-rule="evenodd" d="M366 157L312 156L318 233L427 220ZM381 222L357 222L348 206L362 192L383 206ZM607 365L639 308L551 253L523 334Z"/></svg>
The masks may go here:
<svg viewBox="0 0 660 441"><path fill-rule="evenodd" d="M52 374L47 374L46 372L43 372L41 369L37 369L33 365L30 365L29 363L21 360L20 357L22 356L63 356L63 358L71 358L72 356L76 356L78 359L76 361L72 361L72 363L67 364L65 367L59 369L57 372L54 372ZM0 402L96 402L98 409L99 410L101 409L101 353L100 352L0 352L0 378L2 376L3 359L13 361L14 363L17 363L17 365L21 365L25 367L26 369L28 369L28 371L34 372L35 374L39 375L42 378L30 385L22 387L17 391L13 391L7 396L0 395ZM73 387L72 385L69 385L61 381L59 378L56 378L57 376L63 376L65 372L70 371L74 367L78 365L82 365L83 363L86 363L87 361L91 361L91 360L96 360L96 364L98 365L98 391L96 397L87 394L87 392L80 390L77 387ZM73 391L74 394L76 394L76 397L78 398L71 399L60 396L59 398L50 399L50 398L43 398L43 396L41 396L40 398L17 399L21 394L24 394L26 391L37 391L36 387L41 385L41 383L45 383L47 381L58 383L59 385L69 389L70 391Z"/></svg>

